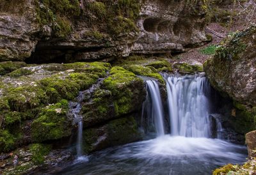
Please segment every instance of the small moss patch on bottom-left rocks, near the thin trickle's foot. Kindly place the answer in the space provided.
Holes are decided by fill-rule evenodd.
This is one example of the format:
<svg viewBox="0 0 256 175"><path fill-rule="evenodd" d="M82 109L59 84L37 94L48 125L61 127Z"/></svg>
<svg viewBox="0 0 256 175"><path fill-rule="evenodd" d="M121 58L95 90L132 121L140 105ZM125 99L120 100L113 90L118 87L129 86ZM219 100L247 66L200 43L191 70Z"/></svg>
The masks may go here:
<svg viewBox="0 0 256 175"><path fill-rule="evenodd" d="M48 155L51 151L51 146L47 144L31 144L29 152L32 153L32 162L36 165L44 163L44 156Z"/></svg>

